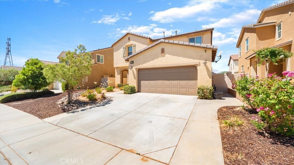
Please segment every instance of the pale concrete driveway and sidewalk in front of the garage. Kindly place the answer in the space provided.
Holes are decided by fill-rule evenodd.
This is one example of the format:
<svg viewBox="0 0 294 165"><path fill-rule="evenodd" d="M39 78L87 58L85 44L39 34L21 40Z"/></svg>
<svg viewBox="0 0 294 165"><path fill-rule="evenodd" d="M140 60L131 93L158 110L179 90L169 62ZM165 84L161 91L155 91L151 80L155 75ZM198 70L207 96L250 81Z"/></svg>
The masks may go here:
<svg viewBox="0 0 294 165"><path fill-rule="evenodd" d="M45 122L1 105L1 152L27 164L64 164L67 158L83 164L223 164L216 111L240 105L237 99L197 104L197 96L186 95L107 96Z"/></svg>

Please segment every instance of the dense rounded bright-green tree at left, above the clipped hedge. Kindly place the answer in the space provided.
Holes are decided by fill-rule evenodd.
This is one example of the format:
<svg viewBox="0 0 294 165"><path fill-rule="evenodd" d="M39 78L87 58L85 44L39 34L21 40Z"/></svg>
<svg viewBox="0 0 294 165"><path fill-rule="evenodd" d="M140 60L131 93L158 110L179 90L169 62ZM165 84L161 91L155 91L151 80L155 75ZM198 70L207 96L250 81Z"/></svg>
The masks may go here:
<svg viewBox="0 0 294 165"><path fill-rule="evenodd" d="M36 92L52 83L48 82L43 75L44 63L38 60L38 58L30 58L26 61L25 65L26 67L22 68L19 75L15 76L12 83L13 86L24 87Z"/></svg>

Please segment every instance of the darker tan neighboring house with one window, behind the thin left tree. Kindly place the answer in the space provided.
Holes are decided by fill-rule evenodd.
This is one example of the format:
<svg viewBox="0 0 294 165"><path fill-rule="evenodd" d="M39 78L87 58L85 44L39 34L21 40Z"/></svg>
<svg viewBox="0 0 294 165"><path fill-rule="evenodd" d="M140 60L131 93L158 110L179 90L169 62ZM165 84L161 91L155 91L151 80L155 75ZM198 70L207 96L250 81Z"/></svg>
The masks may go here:
<svg viewBox="0 0 294 165"><path fill-rule="evenodd" d="M86 89L89 87L89 89L95 88L94 82L97 82L97 85L100 86L101 84L101 78L108 78L109 80L113 81L113 83L109 83L108 85L114 85L114 67L113 67L113 48L102 48L90 51L92 55L92 63L93 65L90 66L91 74L86 76L81 80L81 82L76 85L76 87L81 86L81 89L83 89L82 85L84 85L84 88ZM57 57L58 59L65 57L66 52L63 51L60 53L60 55ZM74 87L74 89L76 89Z"/></svg>

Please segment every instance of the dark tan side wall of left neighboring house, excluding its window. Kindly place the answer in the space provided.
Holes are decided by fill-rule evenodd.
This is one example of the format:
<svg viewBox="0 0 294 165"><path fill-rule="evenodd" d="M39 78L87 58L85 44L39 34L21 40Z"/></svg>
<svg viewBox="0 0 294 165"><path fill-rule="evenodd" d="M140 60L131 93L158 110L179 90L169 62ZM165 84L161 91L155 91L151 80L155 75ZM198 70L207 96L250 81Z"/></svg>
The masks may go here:
<svg viewBox="0 0 294 165"><path fill-rule="evenodd" d="M96 63L96 54L104 55L104 64ZM85 89L87 87L93 89L95 88L94 82L97 82L98 86L101 84L101 78L103 75L109 75L110 78L115 77L115 69L113 67L113 48L91 52L91 55L94 64L90 66L92 70L91 74L88 75L88 82L82 83L82 81L80 81L80 83L77 86L75 86L74 89L82 85L84 85Z"/></svg>

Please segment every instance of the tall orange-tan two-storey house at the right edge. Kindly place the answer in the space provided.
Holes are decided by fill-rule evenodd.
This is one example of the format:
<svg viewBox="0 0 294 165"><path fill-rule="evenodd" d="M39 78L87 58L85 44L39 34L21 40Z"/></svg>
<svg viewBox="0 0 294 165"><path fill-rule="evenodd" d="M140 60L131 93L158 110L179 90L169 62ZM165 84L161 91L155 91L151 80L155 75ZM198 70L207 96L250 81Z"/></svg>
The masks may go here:
<svg viewBox="0 0 294 165"><path fill-rule="evenodd" d="M242 27L236 47L239 56L239 72L265 77L265 63L257 67L253 50L278 47L294 53L294 1L285 1L261 11L257 23ZM294 57L283 64L270 64L269 73L283 76L285 70L294 70Z"/></svg>

